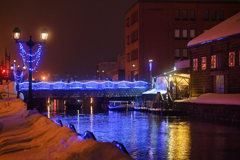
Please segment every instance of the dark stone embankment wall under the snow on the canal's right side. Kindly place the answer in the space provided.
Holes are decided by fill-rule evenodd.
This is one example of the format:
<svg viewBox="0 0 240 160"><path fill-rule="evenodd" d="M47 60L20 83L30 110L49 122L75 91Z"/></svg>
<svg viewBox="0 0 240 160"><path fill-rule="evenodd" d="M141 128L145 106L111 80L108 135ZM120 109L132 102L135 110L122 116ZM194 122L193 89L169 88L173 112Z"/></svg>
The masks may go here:
<svg viewBox="0 0 240 160"><path fill-rule="evenodd" d="M174 102L174 109L189 116L240 122L240 105Z"/></svg>

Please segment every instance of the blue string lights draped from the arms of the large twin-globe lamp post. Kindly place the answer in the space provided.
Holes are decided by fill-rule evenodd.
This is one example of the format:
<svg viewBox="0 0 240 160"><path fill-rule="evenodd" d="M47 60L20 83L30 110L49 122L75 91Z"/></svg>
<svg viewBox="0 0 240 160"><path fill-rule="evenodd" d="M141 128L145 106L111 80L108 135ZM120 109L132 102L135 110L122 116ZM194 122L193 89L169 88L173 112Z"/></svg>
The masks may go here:
<svg viewBox="0 0 240 160"><path fill-rule="evenodd" d="M40 61L40 57L41 57L41 53L42 53L42 45L38 44L38 50L34 54L28 54L25 51L25 49L23 48L22 43L19 43L19 47L20 47L20 55L22 56L24 66L26 66L26 68L28 70L34 71L38 66L38 62ZM28 60L26 60L26 56L31 57L33 59L31 61L28 61ZM33 63L33 62L36 63L34 68L27 67L26 63Z"/></svg>

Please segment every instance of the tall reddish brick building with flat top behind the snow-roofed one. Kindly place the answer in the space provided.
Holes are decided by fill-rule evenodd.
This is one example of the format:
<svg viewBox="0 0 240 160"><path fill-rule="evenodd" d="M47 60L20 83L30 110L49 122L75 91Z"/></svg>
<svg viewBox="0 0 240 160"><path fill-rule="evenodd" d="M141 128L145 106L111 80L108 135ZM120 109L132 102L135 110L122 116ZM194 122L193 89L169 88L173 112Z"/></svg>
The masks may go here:
<svg viewBox="0 0 240 160"><path fill-rule="evenodd" d="M238 0L139 0L125 13L125 79L150 79L188 59L187 43L240 11Z"/></svg>

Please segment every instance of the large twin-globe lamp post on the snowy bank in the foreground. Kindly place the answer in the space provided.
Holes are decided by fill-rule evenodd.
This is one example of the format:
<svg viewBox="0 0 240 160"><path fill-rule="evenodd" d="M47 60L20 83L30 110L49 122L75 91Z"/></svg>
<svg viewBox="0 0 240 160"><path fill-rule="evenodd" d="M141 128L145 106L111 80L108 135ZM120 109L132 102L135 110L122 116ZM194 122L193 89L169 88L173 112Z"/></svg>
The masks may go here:
<svg viewBox="0 0 240 160"><path fill-rule="evenodd" d="M21 36L21 31L19 28L14 28L13 30L13 38L14 40L16 41L16 43L25 43L28 47L29 47L29 54L26 54L29 56L29 61L27 61L29 63L29 67L28 67L28 70L29 70L29 89L28 89L28 93L29 93L29 96L28 96L28 102L27 102L27 110L33 110L33 97L32 97L32 71L34 70L32 68L32 47L35 45L35 44L45 44L47 38L48 38L48 31L46 28L43 28L43 30L41 31L41 39L43 42L33 42L32 41L32 36L30 35L30 39L29 41L18 41L20 39L20 36ZM24 60L24 63L25 63L25 60Z"/></svg>

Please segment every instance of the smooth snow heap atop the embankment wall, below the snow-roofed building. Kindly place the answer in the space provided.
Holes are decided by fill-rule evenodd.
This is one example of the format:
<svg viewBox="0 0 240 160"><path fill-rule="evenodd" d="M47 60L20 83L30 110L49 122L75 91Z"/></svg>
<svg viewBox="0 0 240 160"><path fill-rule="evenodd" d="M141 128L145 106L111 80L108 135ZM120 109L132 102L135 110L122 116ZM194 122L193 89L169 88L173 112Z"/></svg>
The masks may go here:
<svg viewBox="0 0 240 160"><path fill-rule="evenodd" d="M217 94L206 93L197 98L191 97L175 102L192 102L201 104L224 104L224 105L240 105L240 94Z"/></svg>

